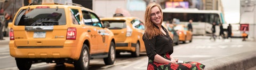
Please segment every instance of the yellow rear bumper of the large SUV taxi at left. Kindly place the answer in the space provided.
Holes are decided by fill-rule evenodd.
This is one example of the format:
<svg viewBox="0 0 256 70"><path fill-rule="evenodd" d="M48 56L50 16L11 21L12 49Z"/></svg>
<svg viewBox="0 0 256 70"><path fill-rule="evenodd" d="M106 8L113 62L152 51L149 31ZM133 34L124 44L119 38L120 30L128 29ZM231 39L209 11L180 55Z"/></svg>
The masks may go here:
<svg viewBox="0 0 256 70"><path fill-rule="evenodd" d="M81 47L73 41L66 41L62 46L16 46L10 41L10 55L17 58L72 58L78 59Z"/></svg>

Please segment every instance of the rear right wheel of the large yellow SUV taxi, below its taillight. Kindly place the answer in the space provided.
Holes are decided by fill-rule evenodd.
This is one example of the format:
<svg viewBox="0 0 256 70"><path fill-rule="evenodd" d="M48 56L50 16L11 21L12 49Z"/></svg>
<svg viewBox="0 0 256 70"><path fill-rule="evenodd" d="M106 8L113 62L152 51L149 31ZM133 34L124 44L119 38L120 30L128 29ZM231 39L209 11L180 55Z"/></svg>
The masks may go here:
<svg viewBox="0 0 256 70"><path fill-rule="evenodd" d="M90 64L89 48L86 44L83 45L80 57L74 62L76 70L88 70Z"/></svg>

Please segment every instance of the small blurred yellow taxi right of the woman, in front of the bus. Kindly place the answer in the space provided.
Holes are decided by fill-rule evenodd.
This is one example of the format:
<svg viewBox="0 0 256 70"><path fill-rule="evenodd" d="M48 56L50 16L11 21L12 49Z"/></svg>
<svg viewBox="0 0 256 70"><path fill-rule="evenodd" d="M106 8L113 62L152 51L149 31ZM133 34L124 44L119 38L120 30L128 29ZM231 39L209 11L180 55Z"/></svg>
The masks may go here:
<svg viewBox="0 0 256 70"><path fill-rule="evenodd" d="M179 35L179 41L186 43L186 41L192 42L192 32L188 31L185 25L177 24L174 29Z"/></svg>

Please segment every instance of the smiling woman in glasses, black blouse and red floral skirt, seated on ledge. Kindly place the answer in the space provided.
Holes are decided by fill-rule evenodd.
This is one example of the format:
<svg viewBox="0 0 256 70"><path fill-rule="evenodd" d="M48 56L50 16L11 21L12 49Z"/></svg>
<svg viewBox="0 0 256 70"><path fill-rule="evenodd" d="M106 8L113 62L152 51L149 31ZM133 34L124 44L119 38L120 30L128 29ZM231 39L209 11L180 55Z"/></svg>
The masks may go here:
<svg viewBox="0 0 256 70"><path fill-rule="evenodd" d="M205 65L198 62L182 62L173 58L173 41L163 22L162 8L157 3L150 3L146 7L143 41L148 56L148 70L158 69L204 69Z"/></svg>

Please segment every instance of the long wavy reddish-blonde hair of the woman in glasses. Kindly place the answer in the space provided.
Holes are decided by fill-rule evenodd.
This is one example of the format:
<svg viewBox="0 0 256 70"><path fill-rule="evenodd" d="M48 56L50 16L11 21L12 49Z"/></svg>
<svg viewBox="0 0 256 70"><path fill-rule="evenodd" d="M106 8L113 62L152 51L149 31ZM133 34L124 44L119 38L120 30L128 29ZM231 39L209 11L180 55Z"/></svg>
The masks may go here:
<svg viewBox="0 0 256 70"><path fill-rule="evenodd" d="M151 9L153 7L157 6L161 12L161 17L162 17L162 21L161 23L163 22L163 12L162 12L162 8L159 4L157 3L150 3L147 5L147 8L146 8L146 12L145 12L145 28L146 28L146 31L145 31L145 36L147 39L152 39L154 38L155 36L157 35L163 35L163 33L157 28L155 27L154 23L151 22L151 17L150 17L150 14L151 14Z"/></svg>

